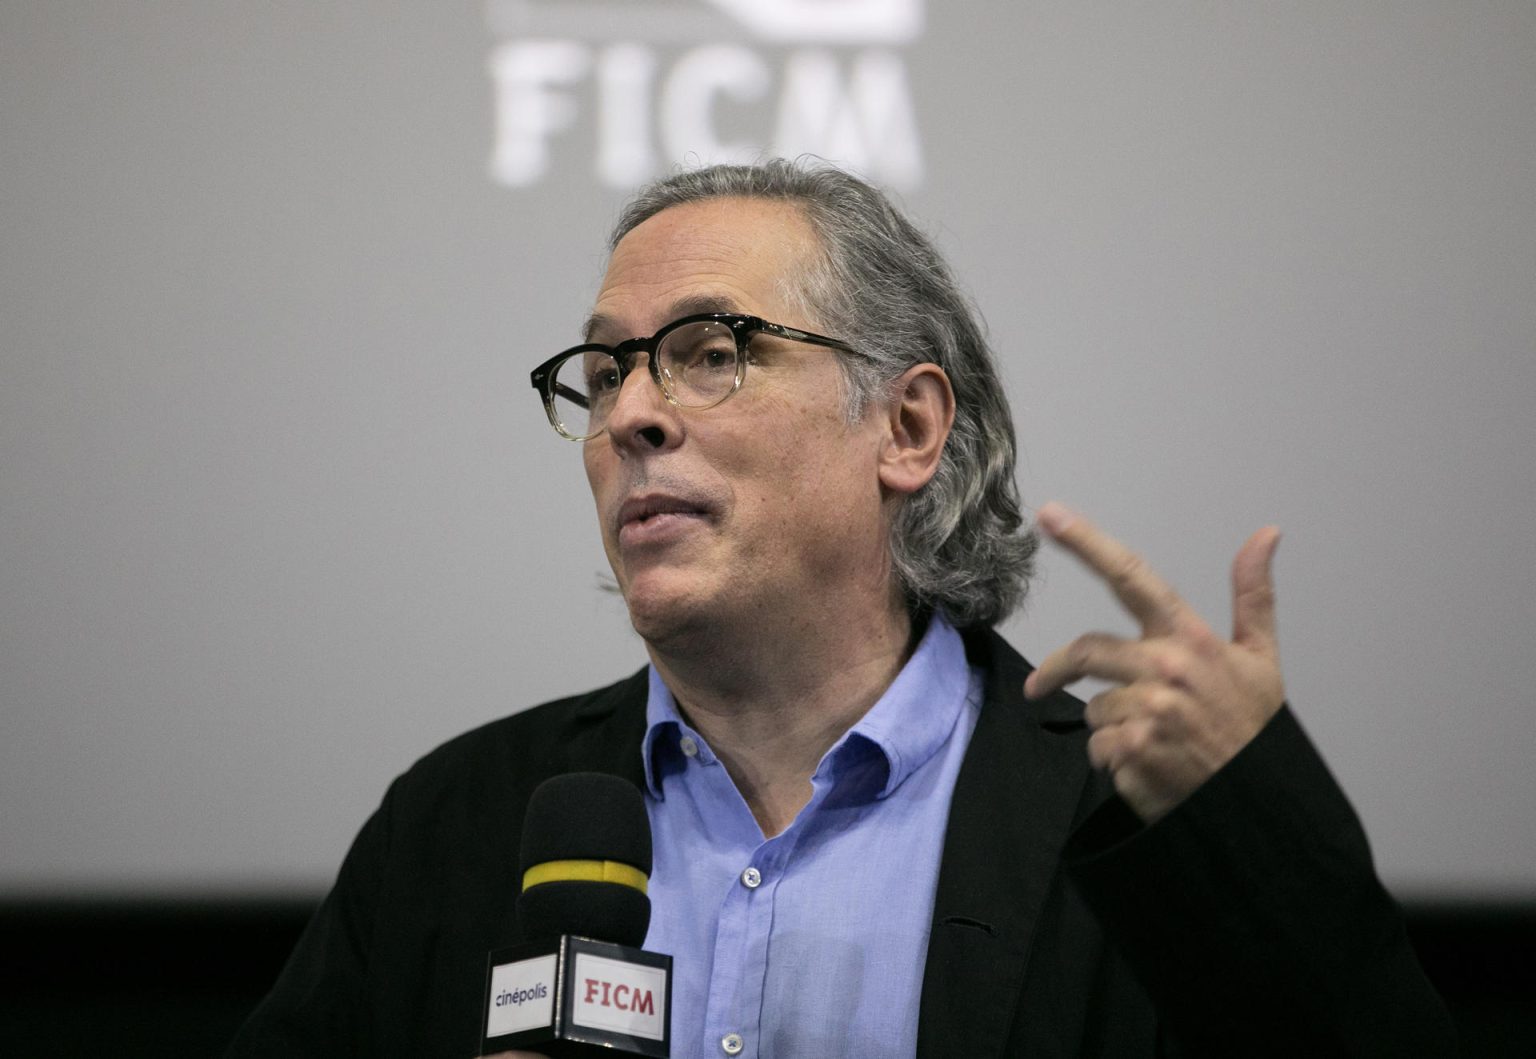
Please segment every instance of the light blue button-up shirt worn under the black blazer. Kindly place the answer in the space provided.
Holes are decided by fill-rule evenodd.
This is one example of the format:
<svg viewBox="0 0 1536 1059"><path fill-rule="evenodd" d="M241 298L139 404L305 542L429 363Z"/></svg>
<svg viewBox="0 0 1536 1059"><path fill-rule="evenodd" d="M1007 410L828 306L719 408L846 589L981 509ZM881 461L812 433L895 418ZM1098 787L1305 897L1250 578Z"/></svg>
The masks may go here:
<svg viewBox="0 0 1536 1059"><path fill-rule="evenodd" d="M895 682L822 758L771 839L651 669L654 842L645 947L673 956L673 1056L902 1056L949 796L982 673L938 615Z"/></svg>

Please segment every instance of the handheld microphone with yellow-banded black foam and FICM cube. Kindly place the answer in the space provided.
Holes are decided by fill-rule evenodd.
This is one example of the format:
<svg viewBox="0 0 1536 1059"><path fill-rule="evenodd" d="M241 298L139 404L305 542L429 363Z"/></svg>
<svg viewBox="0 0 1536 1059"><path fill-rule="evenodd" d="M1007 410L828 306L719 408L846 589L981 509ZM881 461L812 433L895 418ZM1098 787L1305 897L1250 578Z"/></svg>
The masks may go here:
<svg viewBox="0 0 1536 1059"><path fill-rule="evenodd" d="M639 948L651 921L641 792L594 772L544 781L528 799L521 864L527 942L487 958L481 1054L665 1059L671 956Z"/></svg>

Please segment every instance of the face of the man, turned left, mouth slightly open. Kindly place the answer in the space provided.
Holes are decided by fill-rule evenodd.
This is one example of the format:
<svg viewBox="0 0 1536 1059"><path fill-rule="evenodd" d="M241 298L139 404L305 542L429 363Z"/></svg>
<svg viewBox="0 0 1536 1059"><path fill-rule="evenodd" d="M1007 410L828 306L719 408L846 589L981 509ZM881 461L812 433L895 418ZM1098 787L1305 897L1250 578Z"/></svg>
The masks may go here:
<svg viewBox="0 0 1536 1059"><path fill-rule="evenodd" d="M662 211L614 251L591 340L616 344L710 310L840 337L785 294L816 252L783 203ZM636 630L664 650L891 598L882 417L846 424L834 350L757 335L751 354L742 389L703 410L668 404L637 360L607 432L584 443L608 563Z"/></svg>

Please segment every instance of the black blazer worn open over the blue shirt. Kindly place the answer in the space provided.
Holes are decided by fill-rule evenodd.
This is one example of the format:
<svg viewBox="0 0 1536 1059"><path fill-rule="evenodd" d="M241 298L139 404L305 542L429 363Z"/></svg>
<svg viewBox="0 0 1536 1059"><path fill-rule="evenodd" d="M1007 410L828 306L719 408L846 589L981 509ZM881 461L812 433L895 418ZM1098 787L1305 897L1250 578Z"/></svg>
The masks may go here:
<svg viewBox="0 0 1536 1059"><path fill-rule="evenodd" d="M1358 819L1289 710L1155 827L1026 702L1001 638L951 805L920 1056L1452 1054ZM518 845L564 772L644 784L644 670L462 735L398 778L229 1056L476 1053Z"/></svg>

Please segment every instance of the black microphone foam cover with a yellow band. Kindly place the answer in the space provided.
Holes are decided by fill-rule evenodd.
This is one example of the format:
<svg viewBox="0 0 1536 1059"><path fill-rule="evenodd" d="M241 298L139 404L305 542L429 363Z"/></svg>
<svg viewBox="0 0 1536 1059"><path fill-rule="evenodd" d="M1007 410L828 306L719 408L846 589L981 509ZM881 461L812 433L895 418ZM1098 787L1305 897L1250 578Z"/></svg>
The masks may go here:
<svg viewBox="0 0 1536 1059"><path fill-rule="evenodd" d="M518 919L530 941L578 935L639 947L651 922L645 799L619 776L573 772L544 781L522 825Z"/></svg>

